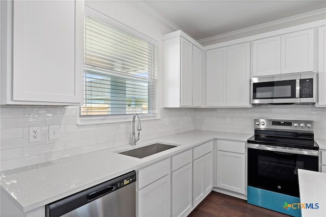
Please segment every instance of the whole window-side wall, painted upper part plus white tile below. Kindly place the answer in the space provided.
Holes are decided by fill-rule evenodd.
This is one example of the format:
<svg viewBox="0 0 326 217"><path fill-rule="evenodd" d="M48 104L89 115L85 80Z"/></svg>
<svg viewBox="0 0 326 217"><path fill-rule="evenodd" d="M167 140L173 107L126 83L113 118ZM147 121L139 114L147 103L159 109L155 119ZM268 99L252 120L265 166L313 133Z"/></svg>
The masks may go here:
<svg viewBox="0 0 326 217"><path fill-rule="evenodd" d="M85 5L158 42L157 99L161 107L162 35L172 30L132 2L87 0ZM74 106L1 106L0 110L1 171L125 145L131 139L131 118L130 122L77 126L78 107ZM141 140L195 129L195 109L160 108L159 112L161 119L142 121ZM48 140L49 125L60 125L59 140ZM29 143L30 126L41 126L41 142Z"/></svg>

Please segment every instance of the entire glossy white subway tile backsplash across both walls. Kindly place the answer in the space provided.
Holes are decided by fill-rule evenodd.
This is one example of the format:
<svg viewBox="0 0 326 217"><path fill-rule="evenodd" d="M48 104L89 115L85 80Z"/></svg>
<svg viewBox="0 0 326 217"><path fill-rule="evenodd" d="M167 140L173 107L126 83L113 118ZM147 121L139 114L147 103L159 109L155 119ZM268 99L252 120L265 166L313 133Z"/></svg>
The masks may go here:
<svg viewBox="0 0 326 217"><path fill-rule="evenodd" d="M1 170L129 144L130 122L77 125L78 106L0 107ZM191 122L188 122L188 117ZM230 123L225 118L230 117ZM165 125L165 118L169 124ZM253 133L255 118L313 120L315 138L326 139L326 108L314 105L253 105L251 108L161 108L160 119L142 120L140 141L189 130ZM60 138L48 140L48 126ZM41 126L41 141L29 142L29 127Z"/></svg>

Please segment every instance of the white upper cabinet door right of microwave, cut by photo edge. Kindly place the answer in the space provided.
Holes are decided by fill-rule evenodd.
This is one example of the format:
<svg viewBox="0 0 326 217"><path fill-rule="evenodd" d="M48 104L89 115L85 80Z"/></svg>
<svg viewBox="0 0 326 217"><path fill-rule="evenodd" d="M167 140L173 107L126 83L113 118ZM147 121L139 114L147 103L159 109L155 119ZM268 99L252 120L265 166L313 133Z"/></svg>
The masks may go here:
<svg viewBox="0 0 326 217"><path fill-rule="evenodd" d="M326 26L318 29L318 105L326 105Z"/></svg>

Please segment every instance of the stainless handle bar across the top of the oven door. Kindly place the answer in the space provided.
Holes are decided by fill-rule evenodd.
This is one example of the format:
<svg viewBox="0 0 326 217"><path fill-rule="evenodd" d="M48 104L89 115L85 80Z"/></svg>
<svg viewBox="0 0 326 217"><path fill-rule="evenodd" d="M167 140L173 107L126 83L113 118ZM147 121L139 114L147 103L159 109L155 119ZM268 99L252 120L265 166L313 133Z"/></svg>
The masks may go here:
<svg viewBox="0 0 326 217"><path fill-rule="evenodd" d="M258 145L258 144L252 144L248 143L247 148L252 148L252 149L259 149L259 150L266 150L266 151L274 151L274 152L282 152L282 153L290 153L290 154L302 154L302 155L311 155L311 156L317 156L318 157L318 151L317 150L307 150L307 149L302 149L302 150L295 150L295 149L286 149L282 147L269 147L265 145Z"/></svg>

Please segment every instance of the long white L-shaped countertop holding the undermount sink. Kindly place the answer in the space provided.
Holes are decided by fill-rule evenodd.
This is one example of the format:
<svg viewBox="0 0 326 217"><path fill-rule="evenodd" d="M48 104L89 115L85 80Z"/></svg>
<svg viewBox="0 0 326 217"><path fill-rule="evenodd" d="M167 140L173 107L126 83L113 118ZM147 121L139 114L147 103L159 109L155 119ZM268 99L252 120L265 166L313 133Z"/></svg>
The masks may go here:
<svg viewBox="0 0 326 217"><path fill-rule="evenodd" d="M138 170L212 139L246 142L252 134L194 130L139 142L135 148L153 143L177 147L142 159L115 153L130 145L48 161L1 173L1 190L23 212L44 206L96 184Z"/></svg>

